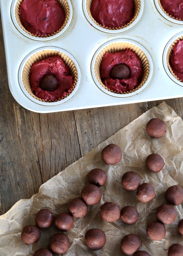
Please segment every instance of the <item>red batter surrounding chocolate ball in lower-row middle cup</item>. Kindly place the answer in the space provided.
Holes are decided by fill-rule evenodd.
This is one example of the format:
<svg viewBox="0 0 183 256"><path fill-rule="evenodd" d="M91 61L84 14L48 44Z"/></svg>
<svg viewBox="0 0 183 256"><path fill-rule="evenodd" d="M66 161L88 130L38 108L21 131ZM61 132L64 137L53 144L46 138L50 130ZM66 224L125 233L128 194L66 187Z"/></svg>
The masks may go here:
<svg viewBox="0 0 183 256"><path fill-rule="evenodd" d="M130 77L127 79L112 79L110 72L115 65L125 64L130 69ZM101 61L101 80L110 90L124 93L135 89L143 75L141 59L130 49L115 53L105 53Z"/></svg>

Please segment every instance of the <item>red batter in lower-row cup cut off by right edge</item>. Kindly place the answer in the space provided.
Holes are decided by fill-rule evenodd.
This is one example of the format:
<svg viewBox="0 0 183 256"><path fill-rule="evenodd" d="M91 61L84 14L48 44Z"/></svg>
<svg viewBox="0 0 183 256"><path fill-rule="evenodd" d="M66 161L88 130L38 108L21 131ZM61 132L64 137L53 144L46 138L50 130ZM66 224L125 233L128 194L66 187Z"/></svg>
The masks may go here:
<svg viewBox="0 0 183 256"><path fill-rule="evenodd" d="M173 73L183 81L183 40L173 46L169 61Z"/></svg>

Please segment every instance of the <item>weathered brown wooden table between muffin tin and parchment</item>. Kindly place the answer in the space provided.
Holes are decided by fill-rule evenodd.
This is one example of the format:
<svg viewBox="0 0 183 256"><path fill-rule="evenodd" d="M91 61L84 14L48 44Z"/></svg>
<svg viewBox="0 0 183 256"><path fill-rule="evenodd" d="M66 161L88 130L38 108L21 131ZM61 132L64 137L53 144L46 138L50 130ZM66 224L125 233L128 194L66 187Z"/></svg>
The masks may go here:
<svg viewBox="0 0 183 256"><path fill-rule="evenodd" d="M163 100L39 114L10 93L0 21L0 215ZM164 100L183 118L183 98Z"/></svg>

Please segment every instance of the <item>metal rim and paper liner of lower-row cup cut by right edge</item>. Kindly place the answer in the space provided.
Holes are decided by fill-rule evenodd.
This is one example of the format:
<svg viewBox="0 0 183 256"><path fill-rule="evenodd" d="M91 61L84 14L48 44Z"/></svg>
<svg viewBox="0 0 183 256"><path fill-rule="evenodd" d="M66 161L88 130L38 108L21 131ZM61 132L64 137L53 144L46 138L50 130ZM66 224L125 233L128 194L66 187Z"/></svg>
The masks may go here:
<svg viewBox="0 0 183 256"><path fill-rule="evenodd" d="M166 44L163 51L163 66L167 75L177 84L183 86L183 81L181 81L172 71L172 68L169 64L169 57L172 52L173 45L178 42L178 40L183 40L183 32L180 32L174 35L169 42Z"/></svg>

